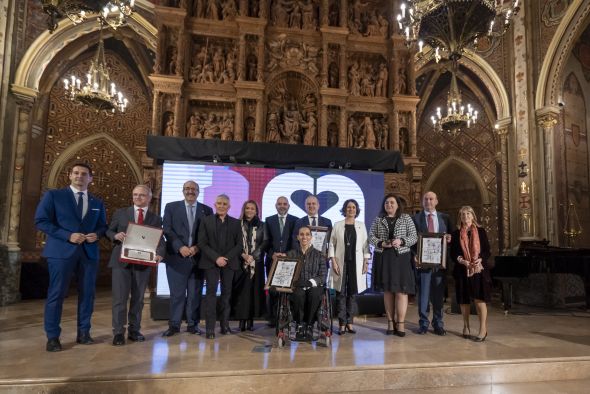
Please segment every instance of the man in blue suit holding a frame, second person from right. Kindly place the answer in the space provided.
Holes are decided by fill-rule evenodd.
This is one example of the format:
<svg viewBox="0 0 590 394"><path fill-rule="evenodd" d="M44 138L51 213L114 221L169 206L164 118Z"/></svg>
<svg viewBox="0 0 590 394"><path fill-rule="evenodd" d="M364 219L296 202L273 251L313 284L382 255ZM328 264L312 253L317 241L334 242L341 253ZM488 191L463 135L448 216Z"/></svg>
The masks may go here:
<svg viewBox="0 0 590 394"><path fill-rule="evenodd" d="M447 242L451 241L451 221L449 215L438 212L436 205L438 198L434 192L426 192L422 198L423 210L414 216L416 229L421 233L447 233ZM443 303L445 290L445 270L438 268L418 267L418 314L420 328L418 334L426 334L430 326L429 304L432 302L432 327L436 335L446 335L443 323Z"/></svg>

